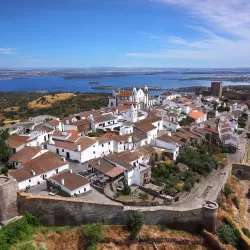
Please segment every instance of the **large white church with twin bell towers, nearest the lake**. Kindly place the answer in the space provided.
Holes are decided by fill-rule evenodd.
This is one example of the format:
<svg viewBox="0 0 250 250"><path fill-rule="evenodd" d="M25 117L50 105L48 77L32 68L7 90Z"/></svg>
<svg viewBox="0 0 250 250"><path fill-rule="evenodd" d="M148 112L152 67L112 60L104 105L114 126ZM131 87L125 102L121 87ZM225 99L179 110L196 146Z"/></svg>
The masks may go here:
<svg viewBox="0 0 250 250"><path fill-rule="evenodd" d="M117 107L120 105L131 105L133 104L135 108L147 108L151 107L153 103L149 99L148 87L145 86L144 89L133 88L132 92L125 91L113 91L111 97L109 97L109 107Z"/></svg>

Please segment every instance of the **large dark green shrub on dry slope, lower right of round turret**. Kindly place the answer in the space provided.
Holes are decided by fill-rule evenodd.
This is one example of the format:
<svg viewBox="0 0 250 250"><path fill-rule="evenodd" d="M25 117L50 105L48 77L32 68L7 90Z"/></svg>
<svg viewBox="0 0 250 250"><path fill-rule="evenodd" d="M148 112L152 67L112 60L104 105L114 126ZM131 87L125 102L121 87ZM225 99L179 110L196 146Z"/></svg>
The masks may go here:
<svg viewBox="0 0 250 250"><path fill-rule="evenodd" d="M240 232L238 229L232 227L227 223L222 223L218 229L217 235L224 244L232 244L238 246L240 242Z"/></svg>

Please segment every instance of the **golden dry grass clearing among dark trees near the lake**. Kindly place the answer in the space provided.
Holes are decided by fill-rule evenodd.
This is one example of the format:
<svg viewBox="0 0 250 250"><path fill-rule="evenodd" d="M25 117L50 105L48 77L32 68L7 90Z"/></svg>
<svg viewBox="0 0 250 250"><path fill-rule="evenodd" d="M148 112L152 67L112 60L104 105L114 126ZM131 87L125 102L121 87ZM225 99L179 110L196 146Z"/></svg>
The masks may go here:
<svg viewBox="0 0 250 250"><path fill-rule="evenodd" d="M55 102L63 101L75 96L73 93L60 93L55 95L45 95L29 103L30 108L50 108Z"/></svg>

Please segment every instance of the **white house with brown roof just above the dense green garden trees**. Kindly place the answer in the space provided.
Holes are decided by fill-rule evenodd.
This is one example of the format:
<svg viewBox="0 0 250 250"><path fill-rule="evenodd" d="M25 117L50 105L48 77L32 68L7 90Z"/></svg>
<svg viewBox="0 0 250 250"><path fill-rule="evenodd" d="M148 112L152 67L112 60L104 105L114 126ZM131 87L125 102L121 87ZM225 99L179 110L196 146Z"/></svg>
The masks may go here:
<svg viewBox="0 0 250 250"><path fill-rule="evenodd" d="M180 145L169 135L163 134L155 139L155 146L164 148L167 153L172 155L172 159L175 161L179 155Z"/></svg>

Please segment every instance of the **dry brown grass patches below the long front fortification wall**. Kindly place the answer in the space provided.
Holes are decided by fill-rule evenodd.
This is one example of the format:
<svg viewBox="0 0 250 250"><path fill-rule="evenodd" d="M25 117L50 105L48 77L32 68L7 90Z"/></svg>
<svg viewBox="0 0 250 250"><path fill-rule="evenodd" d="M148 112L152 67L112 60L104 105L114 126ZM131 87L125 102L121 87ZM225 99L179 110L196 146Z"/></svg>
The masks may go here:
<svg viewBox="0 0 250 250"><path fill-rule="evenodd" d="M84 237L80 228L65 229L65 230L38 230L33 239L34 245L38 247L41 244L46 245L48 250L79 250L86 249ZM126 227L122 226L105 226L104 242L97 245L98 250L153 250L153 245L149 242L126 245L124 243L129 239L130 232ZM170 229L161 229L159 226L143 226L138 237L141 240L147 241L153 239L172 239L173 242L164 242L157 244L159 249L175 249L175 250L206 250L202 243L202 238L191 235L187 232L176 231Z"/></svg>

